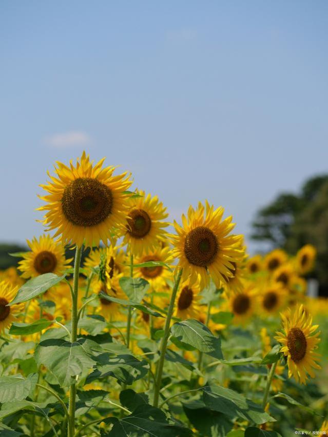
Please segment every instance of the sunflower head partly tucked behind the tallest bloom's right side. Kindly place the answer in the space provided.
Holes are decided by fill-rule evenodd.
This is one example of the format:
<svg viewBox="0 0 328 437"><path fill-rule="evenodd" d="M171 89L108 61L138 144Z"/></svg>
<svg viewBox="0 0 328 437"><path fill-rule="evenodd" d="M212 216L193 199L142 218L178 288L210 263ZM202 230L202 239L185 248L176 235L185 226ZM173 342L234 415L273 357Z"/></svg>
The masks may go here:
<svg viewBox="0 0 328 437"><path fill-rule="evenodd" d="M169 225L164 222L168 216L166 208L159 202L158 196L145 195L144 191L136 191L129 200L127 225L123 231L123 244L129 246L133 255L141 256L158 246L159 241L166 239L163 228Z"/></svg>

